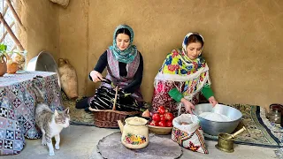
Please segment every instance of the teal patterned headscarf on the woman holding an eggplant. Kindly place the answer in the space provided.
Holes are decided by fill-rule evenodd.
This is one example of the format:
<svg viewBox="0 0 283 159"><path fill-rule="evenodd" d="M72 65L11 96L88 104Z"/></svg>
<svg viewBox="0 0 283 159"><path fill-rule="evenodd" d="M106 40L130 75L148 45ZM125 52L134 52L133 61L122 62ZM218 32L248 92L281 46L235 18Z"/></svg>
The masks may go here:
<svg viewBox="0 0 283 159"><path fill-rule="evenodd" d="M126 28L131 33L130 44L125 50L120 50L117 47L117 43L116 43L116 33L121 28ZM132 44L133 41L134 41L134 31L132 27L129 27L127 25L119 25L119 27L116 27L115 32L113 34L113 45L109 47L115 59L117 59L119 62L126 64L132 63L137 55L136 46Z"/></svg>

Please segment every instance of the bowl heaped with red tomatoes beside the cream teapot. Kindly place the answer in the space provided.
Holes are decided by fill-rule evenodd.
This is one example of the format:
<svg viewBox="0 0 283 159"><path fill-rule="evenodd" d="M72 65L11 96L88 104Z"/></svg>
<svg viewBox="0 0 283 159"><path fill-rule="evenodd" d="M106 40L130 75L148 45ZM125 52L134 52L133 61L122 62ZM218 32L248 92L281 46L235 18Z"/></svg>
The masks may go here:
<svg viewBox="0 0 283 159"><path fill-rule="evenodd" d="M172 120L174 116L164 106L159 106L156 113L152 113L149 122L149 132L156 134L172 133Z"/></svg>

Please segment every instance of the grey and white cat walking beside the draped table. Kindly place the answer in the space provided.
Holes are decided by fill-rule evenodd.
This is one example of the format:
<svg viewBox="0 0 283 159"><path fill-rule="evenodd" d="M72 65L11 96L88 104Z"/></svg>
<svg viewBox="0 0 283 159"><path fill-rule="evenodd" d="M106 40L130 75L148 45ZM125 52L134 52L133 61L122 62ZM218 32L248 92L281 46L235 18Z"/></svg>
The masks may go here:
<svg viewBox="0 0 283 159"><path fill-rule="evenodd" d="M42 92L33 82L34 94L37 98L35 105L35 124L42 130L42 145L47 145L50 155L54 154L52 138L55 137L55 149L59 149L60 133L63 128L69 126L69 108L60 112L50 110L49 105L44 101Z"/></svg>

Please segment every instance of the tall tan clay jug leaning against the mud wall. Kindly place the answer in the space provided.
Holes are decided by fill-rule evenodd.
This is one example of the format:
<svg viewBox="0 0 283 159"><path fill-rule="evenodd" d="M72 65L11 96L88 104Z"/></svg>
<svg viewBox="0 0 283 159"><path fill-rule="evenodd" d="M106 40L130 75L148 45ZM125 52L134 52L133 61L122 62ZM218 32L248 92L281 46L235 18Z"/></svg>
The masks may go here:
<svg viewBox="0 0 283 159"><path fill-rule="evenodd" d="M67 59L59 58L58 72L61 87L69 99L78 97L77 73Z"/></svg>

